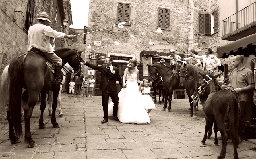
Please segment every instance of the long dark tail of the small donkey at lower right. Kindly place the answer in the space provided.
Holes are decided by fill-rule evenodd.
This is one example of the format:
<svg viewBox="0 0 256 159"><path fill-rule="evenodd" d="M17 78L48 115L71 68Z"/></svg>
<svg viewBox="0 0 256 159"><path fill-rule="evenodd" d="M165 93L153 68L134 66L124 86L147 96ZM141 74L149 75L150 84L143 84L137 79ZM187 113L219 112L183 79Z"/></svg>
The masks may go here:
<svg viewBox="0 0 256 159"><path fill-rule="evenodd" d="M229 112L228 112L228 120L229 120L229 136L234 136L236 139L238 138L238 121L240 115L240 104L236 98L229 99Z"/></svg>

